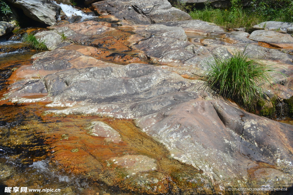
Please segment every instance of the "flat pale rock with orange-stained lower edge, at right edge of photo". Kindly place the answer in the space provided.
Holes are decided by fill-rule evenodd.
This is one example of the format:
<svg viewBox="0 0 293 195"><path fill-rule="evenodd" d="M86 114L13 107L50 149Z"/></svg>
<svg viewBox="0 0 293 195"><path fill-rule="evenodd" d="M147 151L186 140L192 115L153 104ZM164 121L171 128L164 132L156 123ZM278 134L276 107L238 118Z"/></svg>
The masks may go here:
<svg viewBox="0 0 293 195"><path fill-rule="evenodd" d="M249 39L265 42L279 48L293 48L293 37L289 34L267 30L255 30L250 34Z"/></svg>

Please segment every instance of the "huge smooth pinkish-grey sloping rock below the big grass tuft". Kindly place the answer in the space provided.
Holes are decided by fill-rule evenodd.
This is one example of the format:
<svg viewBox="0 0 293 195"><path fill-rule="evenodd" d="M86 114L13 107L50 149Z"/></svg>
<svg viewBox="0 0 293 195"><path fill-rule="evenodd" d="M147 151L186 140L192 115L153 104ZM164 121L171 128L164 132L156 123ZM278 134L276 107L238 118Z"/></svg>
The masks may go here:
<svg viewBox="0 0 293 195"><path fill-rule="evenodd" d="M279 168L273 177L280 180L272 176L262 180L271 173L266 168L275 165L292 172L291 147L286 146L293 136L291 125L243 112L219 100L191 100L135 122L164 144L173 158L202 170L214 184L221 180L223 186L249 186L255 179L260 186L266 182L278 186L292 180L291 173L284 174ZM282 139L274 139L272 134ZM246 179L251 176L253 180Z"/></svg>

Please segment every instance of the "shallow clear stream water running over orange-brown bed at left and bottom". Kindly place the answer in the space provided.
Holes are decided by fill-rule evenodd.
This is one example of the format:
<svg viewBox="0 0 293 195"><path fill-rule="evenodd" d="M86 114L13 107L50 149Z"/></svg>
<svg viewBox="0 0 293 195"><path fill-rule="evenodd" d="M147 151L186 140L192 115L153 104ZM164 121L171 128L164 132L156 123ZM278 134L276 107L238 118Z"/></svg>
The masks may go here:
<svg viewBox="0 0 293 195"><path fill-rule="evenodd" d="M20 42L3 42L2 46L14 44L25 46ZM1 94L8 83L14 82L8 79L12 70L31 65L30 57L35 53L11 50L0 55ZM4 74L5 71L8 72ZM157 191L180 191L203 185L195 177L197 170L170 158L168 151L142 133L132 120L43 115L46 110L42 103L0 106L1 192L5 187L27 187L28 191L60 189L58 193L41 194L141 194L137 183L125 182L125 170L109 164L110 158L124 155L144 155L156 160L157 170L137 177L161 179L158 186L152 186L158 187ZM103 137L88 134L86 127L93 121L110 125L120 133L123 142L105 142ZM188 182L182 182L183 178ZM13 194L22 193L19 190Z"/></svg>

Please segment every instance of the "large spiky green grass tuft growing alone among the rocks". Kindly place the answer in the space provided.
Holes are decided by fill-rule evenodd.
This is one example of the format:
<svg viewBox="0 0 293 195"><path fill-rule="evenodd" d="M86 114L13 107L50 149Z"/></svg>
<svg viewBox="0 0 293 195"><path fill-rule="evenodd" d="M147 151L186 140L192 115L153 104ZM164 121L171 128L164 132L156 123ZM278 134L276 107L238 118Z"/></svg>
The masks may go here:
<svg viewBox="0 0 293 195"><path fill-rule="evenodd" d="M272 80L268 73L274 68L249 59L244 51L236 51L227 59L215 58L207 71L206 84L218 95L250 109L263 97L261 85Z"/></svg>

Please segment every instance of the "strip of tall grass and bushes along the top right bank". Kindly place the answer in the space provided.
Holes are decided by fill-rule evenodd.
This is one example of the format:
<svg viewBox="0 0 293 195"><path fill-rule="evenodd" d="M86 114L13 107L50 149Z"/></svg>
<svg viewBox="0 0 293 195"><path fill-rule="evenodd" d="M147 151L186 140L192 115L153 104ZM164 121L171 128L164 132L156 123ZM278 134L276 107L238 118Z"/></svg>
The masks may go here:
<svg viewBox="0 0 293 195"><path fill-rule="evenodd" d="M215 23L225 30L244 27L251 32L252 27L265 21L293 22L292 0L253 0L248 7L240 0L231 0L231 7L214 9L209 4L203 9L189 12L193 19Z"/></svg>

